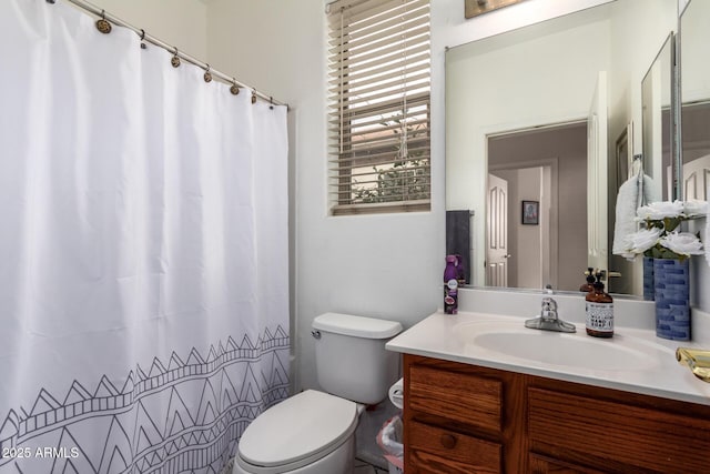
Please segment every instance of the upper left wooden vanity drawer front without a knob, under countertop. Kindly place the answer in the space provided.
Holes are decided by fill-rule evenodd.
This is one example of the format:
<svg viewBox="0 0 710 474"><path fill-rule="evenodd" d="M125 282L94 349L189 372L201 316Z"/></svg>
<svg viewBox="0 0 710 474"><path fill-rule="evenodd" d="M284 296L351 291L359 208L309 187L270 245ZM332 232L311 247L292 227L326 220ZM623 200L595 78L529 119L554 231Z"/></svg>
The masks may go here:
<svg viewBox="0 0 710 474"><path fill-rule="evenodd" d="M423 365L409 367L407 403L428 413L499 433L503 382Z"/></svg>

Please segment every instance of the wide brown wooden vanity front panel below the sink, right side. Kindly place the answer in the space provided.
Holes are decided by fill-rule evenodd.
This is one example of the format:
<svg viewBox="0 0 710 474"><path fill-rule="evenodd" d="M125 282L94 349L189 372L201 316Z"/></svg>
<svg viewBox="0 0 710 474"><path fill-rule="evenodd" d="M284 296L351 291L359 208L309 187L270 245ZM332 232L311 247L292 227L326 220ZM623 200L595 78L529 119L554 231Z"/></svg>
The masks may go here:
<svg viewBox="0 0 710 474"><path fill-rule="evenodd" d="M666 473L708 468L708 420L535 387L528 389L528 401L534 452Z"/></svg>

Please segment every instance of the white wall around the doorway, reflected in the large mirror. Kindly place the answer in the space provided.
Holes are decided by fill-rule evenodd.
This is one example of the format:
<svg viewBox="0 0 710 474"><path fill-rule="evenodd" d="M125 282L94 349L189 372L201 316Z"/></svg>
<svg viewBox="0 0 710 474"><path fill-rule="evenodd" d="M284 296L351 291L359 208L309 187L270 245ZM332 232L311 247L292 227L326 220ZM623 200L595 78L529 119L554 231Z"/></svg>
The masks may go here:
<svg viewBox="0 0 710 474"><path fill-rule="evenodd" d="M585 120L598 72L608 71L609 157L630 123L629 147L640 150L641 80L676 22L674 0L618 0L446 53L446 208L475 211L473 284L485 284L487 137ZM610 162L615 185L616 169ZM584 270L574 269L580 280ZM640 294L635 269L625 274Z"/></svg>

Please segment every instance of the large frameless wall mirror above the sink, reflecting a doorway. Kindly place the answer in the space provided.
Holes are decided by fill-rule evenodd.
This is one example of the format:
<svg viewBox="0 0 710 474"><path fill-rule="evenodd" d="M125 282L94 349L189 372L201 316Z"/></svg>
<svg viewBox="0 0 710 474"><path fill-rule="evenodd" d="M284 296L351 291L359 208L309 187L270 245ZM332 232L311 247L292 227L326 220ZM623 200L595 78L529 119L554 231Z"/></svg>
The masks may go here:
<svg viewBox="0 0 710 474"><path fill-rule="evenodd" d="M589 262L619 271L610 234L641 150L641 80L677 18L676 0L617 0L447 50L446 209L473 212L473 285L577 291ZM508 215L489 222L491 208ZM608 289L641 294L628 268Z"/></svg>

